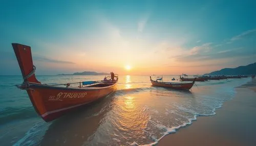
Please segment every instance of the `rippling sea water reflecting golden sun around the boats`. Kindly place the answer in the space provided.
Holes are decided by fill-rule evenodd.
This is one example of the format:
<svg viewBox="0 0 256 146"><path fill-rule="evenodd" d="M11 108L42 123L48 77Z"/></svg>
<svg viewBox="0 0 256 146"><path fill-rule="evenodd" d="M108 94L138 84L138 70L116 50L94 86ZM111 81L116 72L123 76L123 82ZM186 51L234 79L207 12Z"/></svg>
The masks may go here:
<svg viewBox="0 0 256 146"><path fill-rule="evenodd" d="M102 80L104 76L37 76L41 83ZM156 76L152 77L153 79ZM163 76L164 81L178 76ZM0 76L1 145L146 145L211 116L234 87L250 78L196 82L189 91L151 86L149 76L119 76L118 88L106 98L50 123L35 112L25 90L14 85L21 76ZM177 82L177 81L176 81ZM72 85L77 86L77 85Z"/></svg>

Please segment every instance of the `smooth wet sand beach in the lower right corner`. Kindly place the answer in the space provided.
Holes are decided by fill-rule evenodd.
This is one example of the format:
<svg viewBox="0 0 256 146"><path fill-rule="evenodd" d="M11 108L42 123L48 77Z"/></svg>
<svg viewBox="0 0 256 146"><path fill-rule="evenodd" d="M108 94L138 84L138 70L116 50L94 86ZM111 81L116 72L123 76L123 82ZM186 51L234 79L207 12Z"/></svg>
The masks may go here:
<svg viewBox="0 0 256 146"><path fill-rule="evenodd" d="M216 115L198 117L192 125L163 137L158 145L255 145L256 80L236 91Z"/></svg>

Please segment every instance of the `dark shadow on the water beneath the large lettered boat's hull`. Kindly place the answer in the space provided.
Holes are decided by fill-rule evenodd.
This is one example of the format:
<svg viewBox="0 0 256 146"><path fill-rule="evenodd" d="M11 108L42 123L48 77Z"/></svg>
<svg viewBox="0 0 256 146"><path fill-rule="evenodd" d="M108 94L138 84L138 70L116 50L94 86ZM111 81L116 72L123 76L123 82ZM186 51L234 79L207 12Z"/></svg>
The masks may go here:
<svg viewBox="0 0 256 146"><path fill-rule="evenodd" d="M52 121L38 145L83 145L90 141L112 110L114 100L115 93L112 93Z"/></svg>

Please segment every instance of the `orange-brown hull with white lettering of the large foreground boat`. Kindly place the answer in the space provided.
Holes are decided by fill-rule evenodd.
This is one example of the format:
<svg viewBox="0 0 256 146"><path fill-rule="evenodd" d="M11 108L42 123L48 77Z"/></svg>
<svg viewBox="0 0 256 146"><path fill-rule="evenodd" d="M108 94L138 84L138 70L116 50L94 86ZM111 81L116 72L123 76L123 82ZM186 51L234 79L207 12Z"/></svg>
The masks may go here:
<svg viewBox="0 0 256 146"><path fill-rule="evenodd" d="M116 84L105 88L66 88L46 85L31 85L29 98L45 121L51 121L66 112L105 97L116 90Z"/></svg>

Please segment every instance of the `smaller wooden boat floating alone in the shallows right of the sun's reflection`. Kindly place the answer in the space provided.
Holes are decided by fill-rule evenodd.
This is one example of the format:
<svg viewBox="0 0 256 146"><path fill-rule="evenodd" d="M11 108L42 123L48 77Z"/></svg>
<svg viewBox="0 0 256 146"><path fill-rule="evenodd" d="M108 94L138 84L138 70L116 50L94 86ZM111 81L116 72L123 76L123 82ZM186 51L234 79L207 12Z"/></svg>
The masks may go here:
<svg viewBox="0 0 256 146"><path fill-rule="evenodd" d="M150 81L153 86L172 88L172 89L185 89L185 90L189 90L195 84L195 79L192 83L158 82L157 80L153 81L150 76Z"/></svg>

